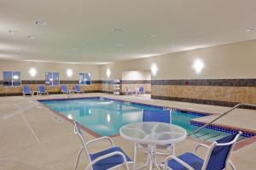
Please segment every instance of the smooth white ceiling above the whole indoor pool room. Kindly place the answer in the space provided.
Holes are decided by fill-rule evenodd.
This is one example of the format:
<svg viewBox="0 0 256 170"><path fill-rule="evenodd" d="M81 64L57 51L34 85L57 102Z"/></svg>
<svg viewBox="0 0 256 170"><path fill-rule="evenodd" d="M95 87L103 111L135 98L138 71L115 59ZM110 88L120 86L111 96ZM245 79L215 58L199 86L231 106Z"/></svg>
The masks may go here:
<svg viewBox="0 0 256 170"><path fill-rule="evenodd" d="M0 59L137 59L255 39L255 19L255 0L0 0Z"/></svg>

